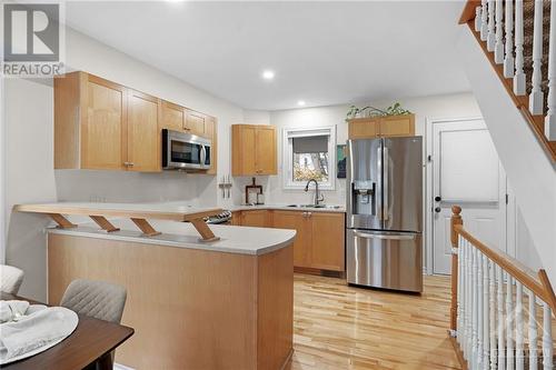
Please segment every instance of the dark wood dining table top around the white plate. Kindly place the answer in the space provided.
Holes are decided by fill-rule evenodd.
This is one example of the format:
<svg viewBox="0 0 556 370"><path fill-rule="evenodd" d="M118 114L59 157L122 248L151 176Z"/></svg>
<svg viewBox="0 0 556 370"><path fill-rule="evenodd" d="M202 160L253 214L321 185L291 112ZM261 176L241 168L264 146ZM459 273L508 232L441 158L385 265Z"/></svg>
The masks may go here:
<svg viewBox="0 0 556 370"><path fill-rule="evenodd" d="M1 300L36 301L0 292ZM111 352L133 334L133 329L79 314L76 330L60 343L29 357L2 366L2 369L82 369L98 358Z"/></svg>

